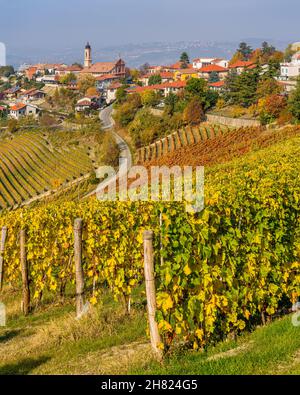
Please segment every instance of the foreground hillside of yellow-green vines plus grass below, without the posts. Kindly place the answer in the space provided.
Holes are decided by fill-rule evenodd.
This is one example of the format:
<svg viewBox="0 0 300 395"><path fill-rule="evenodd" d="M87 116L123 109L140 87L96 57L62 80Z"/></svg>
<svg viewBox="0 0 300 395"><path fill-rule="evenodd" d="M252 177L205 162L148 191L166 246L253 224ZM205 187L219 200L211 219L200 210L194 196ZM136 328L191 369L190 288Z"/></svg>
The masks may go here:
<svg viewBox="0 0 300 395"><path fill-rule="evenodd" d="M286 137L208 169L206 208L197 215L177 203L90 200L0 216L9 230L0 372L141 373L142 366L149 373L276 373L279 367L291 373L290 361L299 369L297 328L290 317L277 321L299 297L299 147L299 136ZM75 320L77 217L84 223L84 297L91 304L81 321ZM24 227L32 296L27 317L19 312ZM144 229L155 236L164 366L153 362L146 331Z"/></svg>

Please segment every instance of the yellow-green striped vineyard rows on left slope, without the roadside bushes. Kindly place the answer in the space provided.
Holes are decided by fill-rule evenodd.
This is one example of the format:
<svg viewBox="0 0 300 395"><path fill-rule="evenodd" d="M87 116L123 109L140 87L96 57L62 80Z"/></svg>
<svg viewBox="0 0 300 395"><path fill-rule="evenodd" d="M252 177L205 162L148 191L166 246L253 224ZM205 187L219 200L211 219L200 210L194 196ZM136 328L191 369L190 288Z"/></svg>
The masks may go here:
<svg viewBox="0 0 300 395"><path fill-rule="evenodd" d="M92 167L87 147L53 148L41 133L0 140L0 210L66 185Z"/></svg>

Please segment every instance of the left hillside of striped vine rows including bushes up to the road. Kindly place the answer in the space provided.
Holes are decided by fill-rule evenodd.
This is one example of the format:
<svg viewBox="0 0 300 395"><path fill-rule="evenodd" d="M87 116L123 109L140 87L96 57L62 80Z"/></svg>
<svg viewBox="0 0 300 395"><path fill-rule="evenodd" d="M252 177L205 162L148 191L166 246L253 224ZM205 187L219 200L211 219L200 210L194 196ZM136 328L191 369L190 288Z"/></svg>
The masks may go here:
<svg viewBox="0 0 300 395"><path fill-rule="evenodd" d="M19 132L0 138L0 210L87 179L97 167L99 132ZM95 150L95 146L97 147Z"/></svg>

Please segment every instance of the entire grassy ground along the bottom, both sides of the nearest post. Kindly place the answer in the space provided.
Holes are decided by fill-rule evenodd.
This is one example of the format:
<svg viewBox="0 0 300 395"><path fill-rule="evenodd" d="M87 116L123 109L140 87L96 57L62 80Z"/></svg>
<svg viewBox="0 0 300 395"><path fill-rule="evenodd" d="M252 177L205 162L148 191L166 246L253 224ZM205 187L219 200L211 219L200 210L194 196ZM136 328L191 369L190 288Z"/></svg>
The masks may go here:
<svg viewBox="0 0 300 395"><path fill-rule="evenodd" d="M46 297L28 317L20 312L20 299L14 291L0 297L8 310L7 327L0 328L0 375L300 374L300 326L292 325L290 315L205 351L175 349L161 364L151 354L143 303L133 304L127 316L105 292L102 303L77 321L71 291L60 302Z"/></svg>

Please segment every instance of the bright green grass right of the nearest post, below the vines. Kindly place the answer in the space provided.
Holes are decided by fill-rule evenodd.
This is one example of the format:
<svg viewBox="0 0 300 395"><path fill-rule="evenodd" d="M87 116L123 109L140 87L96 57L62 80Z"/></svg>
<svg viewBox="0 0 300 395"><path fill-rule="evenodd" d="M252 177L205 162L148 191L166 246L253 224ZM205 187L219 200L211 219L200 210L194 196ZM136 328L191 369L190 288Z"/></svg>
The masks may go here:
<svg viewBox="0 0 300 395"><path fill-rule="evenodd" d="M133 374L267 375L300 373L300 326L291 316L203 352L169 356L163 365L150 362Z"/></svg>

